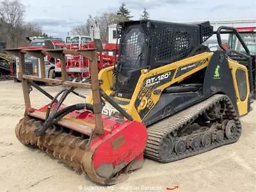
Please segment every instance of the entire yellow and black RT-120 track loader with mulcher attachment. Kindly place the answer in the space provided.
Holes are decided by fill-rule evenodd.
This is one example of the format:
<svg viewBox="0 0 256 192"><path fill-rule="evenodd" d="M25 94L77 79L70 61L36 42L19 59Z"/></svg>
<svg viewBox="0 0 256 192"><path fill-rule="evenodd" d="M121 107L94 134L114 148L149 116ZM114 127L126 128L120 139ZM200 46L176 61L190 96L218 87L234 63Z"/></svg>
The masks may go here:
<svg viewBox="0 0 256 192"><path fill-rule="evenodd" d="M226 50L223 31L236 34L247 54ZM223 51L202 45L214 33ZM26 112L15 133L21 143L108 185L141 168L143 154L169 163L239 139L239 116L250 111L254 91L250 52L236 29L138 20L118 25L118 35L118 64L101 70L99 79L95 49L45 50L61 60L61 80L45 79L44 65L42 77L24 74L24 54L41 58L44 51L6 50L20 58ZM90 60L92 84L67 81L65 54ZM247 61L248 68L236 60ZM53 97L33 81L65 88ZM32 108L31 86L51 102ZM86 103L65 106L70 93L84 97L76 87L92 88L92 95Z"/></svg>

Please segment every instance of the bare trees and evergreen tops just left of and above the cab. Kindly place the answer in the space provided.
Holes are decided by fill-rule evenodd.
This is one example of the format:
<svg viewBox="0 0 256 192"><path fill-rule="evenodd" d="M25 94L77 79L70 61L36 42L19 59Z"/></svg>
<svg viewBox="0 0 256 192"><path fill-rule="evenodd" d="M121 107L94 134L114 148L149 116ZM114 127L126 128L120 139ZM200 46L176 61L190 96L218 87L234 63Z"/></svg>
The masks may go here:
<svg viewBox="0 0 256 192"><path fill-rule="evenodd" d="M133 16L131 15L131 11L127 8L125 3L122 3L119 9L114 13L106 12L96 15L94 19L98 22L102 42L108 42L108 26L111 24L117 24L118 22L131 20L132 18ZM140 19L149 19L147 9L143 9ZM71 33L72 35L90 35L87 24L76 26L72 29Z"/></svg>

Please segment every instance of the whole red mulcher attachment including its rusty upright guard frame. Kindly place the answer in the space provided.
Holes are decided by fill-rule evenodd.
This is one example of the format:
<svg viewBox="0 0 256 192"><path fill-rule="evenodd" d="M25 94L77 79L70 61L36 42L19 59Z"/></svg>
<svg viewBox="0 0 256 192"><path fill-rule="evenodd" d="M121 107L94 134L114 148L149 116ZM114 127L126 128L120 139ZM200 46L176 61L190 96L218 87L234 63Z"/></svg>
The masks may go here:
<svg viewBox="0 0 256 192"><path fill-rule="evenodd" d="M29 147L40 148L68 164L82 170L99 184L116 184L127 179L127 172L141 168L143 150L147 142L146 127L132 120L124 109L120 108L102 90L97 78L97 51L75 50L22 50L8 49L6 52L19 56L22 90L26 105L24 118L15 129L19 141ZM92 84L68 82L65 70L65 54L82 54L90 60ZM24 54L36 56L43 60L45 54L61 60L61 80L47 79L44 74L44 62L40 63L41 77L25 74ZM64 84L66 87L55 97L45 92L33 81ZM31 108L30 86L35 87L52 100L41 109ZM74 104L64 106L62 103L70 93L84 97L75 92L77 87L92 88L93 105ZM100 97L113 105L124 118L110 118L101 115Z"/></svg>

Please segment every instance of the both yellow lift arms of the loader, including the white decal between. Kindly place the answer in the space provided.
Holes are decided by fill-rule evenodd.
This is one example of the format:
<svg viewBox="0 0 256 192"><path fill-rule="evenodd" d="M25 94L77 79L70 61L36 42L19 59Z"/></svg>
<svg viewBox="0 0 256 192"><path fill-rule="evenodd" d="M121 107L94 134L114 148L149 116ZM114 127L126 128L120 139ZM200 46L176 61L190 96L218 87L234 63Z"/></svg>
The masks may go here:
<svg viewBox="0 0 256 192"><path fill-rule="evenodd" d="M165 88L174 83L179 83L188 79L191 74L195 74L208 66L212 52L204 52L184 60L155 68L154 70L141 70L141 76L136 84L131 100L120 97L113 97L120 107L129 113L134 120L144 122L150 111L156 106ZM108 95L111 94L110 87L113 84L113 67L104 68L99 72L99 79L102 80L101 88ZM92 103L92 97L88 97L86 102ZM104 110L107 111L109 104L106 103ZM113 113L112 113L113 112ZM114 114L115 109L111 109ZM105 113L104 113L105 114ZM107 115L107 114L106 114ZM112 116L112 115L111 115Z"/></svg>

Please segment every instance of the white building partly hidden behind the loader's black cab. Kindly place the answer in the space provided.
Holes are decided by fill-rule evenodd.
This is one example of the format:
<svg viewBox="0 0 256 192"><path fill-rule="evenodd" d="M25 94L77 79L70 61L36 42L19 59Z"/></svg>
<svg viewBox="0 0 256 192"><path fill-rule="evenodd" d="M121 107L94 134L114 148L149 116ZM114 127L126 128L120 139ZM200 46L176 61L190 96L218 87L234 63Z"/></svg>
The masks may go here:
<svg viewBox="0 0 256 192"><path fill-rule="evenodd" d="M199 21L200 22L200 21ZM194 23L194 22L187 22ZM243 27L256 27L256 19L243 19L243 20L211 20L211 25L214 27L214 30L217 30L220 26L230 26L234 28L243 28ZM108 28L108 41L109 43L116 43L116 24L109 26ZM228 35L223 35L223 39L227 39ZM216 38L212 36L212 38Z"/></svg>

